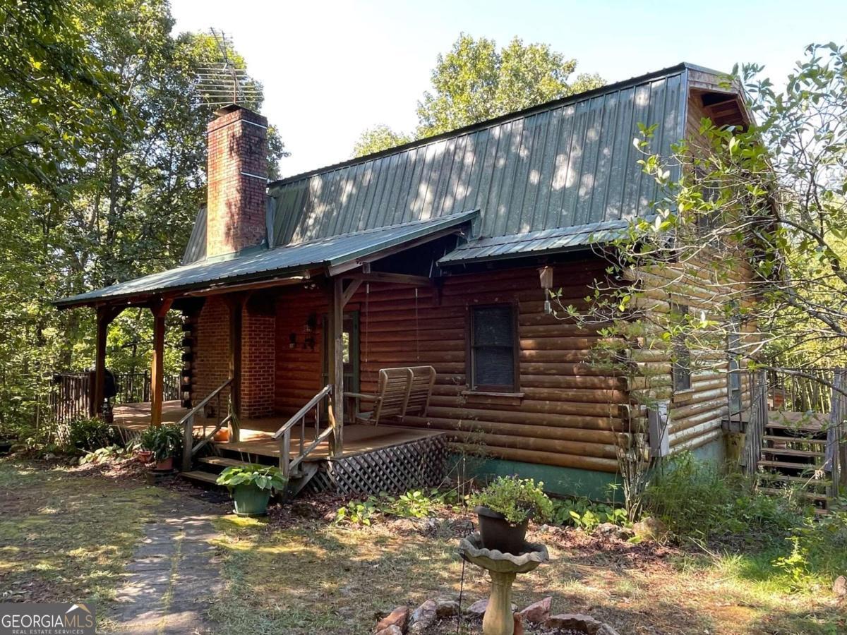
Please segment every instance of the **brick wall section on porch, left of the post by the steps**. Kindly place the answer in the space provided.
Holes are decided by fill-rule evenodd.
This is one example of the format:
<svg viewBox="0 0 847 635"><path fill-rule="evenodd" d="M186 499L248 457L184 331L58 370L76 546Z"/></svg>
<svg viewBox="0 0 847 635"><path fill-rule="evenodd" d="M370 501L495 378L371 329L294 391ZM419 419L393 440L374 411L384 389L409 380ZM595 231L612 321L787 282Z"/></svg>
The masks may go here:
<svg viewBox="0 0 847 635"><path fill-rule="evenodd" d="M195 346L191 400L197 405L230 377L230 309L219 296L213 295L203 303ZM229 390L224 391L225 396L229 394ZM223 396L221 403L226 403Z"/></svg>

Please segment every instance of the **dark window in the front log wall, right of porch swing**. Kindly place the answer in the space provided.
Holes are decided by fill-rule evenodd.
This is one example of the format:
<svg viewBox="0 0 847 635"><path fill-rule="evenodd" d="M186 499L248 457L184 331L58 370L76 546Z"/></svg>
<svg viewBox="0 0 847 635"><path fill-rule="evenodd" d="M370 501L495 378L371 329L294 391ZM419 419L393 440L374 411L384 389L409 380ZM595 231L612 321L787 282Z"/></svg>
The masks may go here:
<svg viewBox="0 0 847 635"><path fill-rule="evenodd" d="M473 306L470 317L470 388L517 392L518 329L514 306Z"/></svg>

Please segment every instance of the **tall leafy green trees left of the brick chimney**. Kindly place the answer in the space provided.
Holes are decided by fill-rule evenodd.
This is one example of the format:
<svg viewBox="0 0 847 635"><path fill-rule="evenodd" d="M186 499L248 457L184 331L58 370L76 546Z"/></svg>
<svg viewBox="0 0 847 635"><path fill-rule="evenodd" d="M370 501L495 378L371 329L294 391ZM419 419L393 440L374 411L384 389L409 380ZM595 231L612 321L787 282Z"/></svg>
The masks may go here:
<svg viewBox="0 0 847 635"><path fill-rule="evenodd" d="M213 106L197 69L220 52L173 25L165 0L0 9L0 424L31 417L45 373L91 365L91 316L51 301L180 261L206 200ZM285 155L274 130L269 146L273 176ZM147 367L151 325L141 310L113 323L110 367Z"/></svg>

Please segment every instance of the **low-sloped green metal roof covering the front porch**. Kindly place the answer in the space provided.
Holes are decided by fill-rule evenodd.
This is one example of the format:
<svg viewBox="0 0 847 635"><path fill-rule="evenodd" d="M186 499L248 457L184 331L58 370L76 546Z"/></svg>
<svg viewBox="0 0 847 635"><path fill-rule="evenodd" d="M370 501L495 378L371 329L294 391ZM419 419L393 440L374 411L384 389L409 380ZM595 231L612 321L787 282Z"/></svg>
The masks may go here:
<svg viewBox="0 0 847 635"><path fill-rule="evenodd" d="M274 249L252 248L229 259L193 262L161 273L152 273L143 278L74 295L57 301L56 305L68 307L89 305L100 301L129 300L171 291L198 289L208 287L210 284L236 284L285 274L296 275L314 268L338 267L358 259L374 257L381 251L435 235L441 230L469 223L476 215L476 211L463 212L353 234L292 242Z"/></svg>

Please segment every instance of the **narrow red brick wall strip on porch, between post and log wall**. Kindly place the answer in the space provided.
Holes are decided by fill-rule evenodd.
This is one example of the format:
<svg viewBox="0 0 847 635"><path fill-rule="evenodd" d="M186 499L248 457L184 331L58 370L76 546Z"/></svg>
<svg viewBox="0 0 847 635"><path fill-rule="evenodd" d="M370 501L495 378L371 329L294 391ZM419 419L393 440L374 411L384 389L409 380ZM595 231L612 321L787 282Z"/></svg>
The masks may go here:
<svg viewBox="0 0 847 635"><path fill-rule="evenodd" d="M244 311L241 323L241 415L274 414L276 317Z"/></svg>

